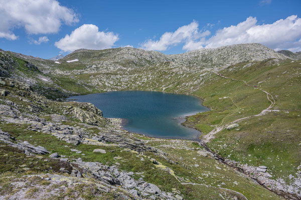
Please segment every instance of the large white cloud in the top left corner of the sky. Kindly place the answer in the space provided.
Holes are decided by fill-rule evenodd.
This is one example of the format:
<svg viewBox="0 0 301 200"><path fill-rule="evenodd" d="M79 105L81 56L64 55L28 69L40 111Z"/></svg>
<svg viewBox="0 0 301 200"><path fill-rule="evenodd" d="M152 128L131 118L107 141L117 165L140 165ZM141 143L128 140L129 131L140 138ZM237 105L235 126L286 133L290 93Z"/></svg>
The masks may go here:
<svg viewBox="0 0 301 200"><path fill-rule="evenodd" d="M24 27L29 34L56 33L62 23L78 18L57 0L0 0L0 37L17 39L14 28Z"/></svg>

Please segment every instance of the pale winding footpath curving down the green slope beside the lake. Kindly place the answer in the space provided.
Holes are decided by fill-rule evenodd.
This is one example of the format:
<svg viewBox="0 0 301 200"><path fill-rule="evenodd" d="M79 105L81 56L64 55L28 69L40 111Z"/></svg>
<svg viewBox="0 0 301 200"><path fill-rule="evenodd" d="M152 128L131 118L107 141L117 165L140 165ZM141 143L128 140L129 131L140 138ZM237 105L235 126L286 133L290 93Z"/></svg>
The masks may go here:
<svg viewBox="0 0 301 200"><path fill-rule="evenodd" d="M219 74L217 74L219 75ZM253 87L253 85L250 85L247 83L247 81L245 80L238 80L238 79L235 79L235 78L230 78L230 77L226 77L226 76L223 76L223 75L219 75L223 78L226 78L226 79L231 79L231 80L236 80L236 81L241 81L241 82L244 82L247 86L250 86L250 87ZM242 120L245 120L245 119L248 119L248 118L251 118L253 116L261 116L263 114L265 114L266 112L269 112L270 109L274 106L275 104L275 99L274 97L272 96L272 94L268 93L267 91L263 90L263 89L260 89L258 87L254 87L255 89L259 89L260 91L263 91L264 93L266 93L266 97L267 99L271 102L271 104L263 109L259 114L254 114L254 115L250 115L250 116L245 116L245 117L242 117L242 118L239 118L239 119L236 119L230 123L227 123L225 125L222 125L222 126L218 126L216 128L214 128L213 130L211 130L208 134L204 135L202 140L205 141L206 143L208 143L211 139L213 139L215 136L216 133L218 133L219 131L221 131L222 129L224 129L225 127L227 127L228 125L232 124L232 123L236 123L236 122L240 122Z"/></svg>

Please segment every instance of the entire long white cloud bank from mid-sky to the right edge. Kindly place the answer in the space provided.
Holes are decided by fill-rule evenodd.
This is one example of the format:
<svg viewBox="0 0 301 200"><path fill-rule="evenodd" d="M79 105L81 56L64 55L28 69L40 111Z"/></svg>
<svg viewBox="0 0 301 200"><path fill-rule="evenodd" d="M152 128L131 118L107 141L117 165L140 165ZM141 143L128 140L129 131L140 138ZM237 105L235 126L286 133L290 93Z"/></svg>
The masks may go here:
<svg viewBox="0 0 301 200"><path fill-rule="evenodd" d="M210 31L200 32L194 21L179 27L175 32L164 33L159 40L147 40L141 47L149 50L167 50L168 47L183 44L184 50L214 48L238 43L261 43L275 50L300 50L301 18L288 16L269 24L258 24L256 17L248 17L237 25L224 27L210 35Z"/></svg>

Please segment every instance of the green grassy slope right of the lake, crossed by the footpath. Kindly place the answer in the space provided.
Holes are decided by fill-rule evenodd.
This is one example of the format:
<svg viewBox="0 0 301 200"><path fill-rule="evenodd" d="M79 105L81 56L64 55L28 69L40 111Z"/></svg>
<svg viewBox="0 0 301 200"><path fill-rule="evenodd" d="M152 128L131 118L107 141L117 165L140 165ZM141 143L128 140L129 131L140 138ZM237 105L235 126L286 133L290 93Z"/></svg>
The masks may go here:
<svg viewBox="0 0 301 200"><path fill-rule="evenodd" d="M289 182L289 174L295 176L301 162L300 63L299 60L274 64L266 60L222 70L224 76L246 80L270 92L276 103L274 111L243 120L236 129L218 132L208 146L223 157L255 166L266 165L273 178L281 177ZM214 126L258 114L270 104L264 92L216 74L194 94L202 97L204 105L212 111L191 116L186 124L204 134Z"/></svg>

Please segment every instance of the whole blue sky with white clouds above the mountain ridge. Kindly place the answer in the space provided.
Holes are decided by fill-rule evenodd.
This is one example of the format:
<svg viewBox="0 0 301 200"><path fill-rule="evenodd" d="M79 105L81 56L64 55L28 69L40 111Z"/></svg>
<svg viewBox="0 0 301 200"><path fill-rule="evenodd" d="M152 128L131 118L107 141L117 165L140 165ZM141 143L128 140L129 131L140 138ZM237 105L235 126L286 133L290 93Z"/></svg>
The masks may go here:
<svg viewBox="0 0 301 200"><path fill-rule="evenodd" d="M0 0L0 48L42 58L252 42L301 51L301 0Z"/></svg>

